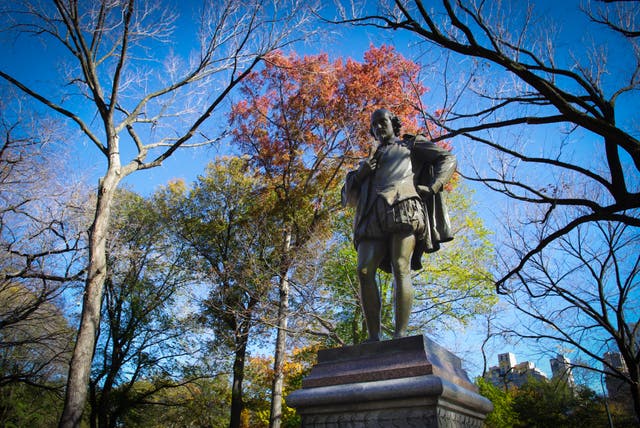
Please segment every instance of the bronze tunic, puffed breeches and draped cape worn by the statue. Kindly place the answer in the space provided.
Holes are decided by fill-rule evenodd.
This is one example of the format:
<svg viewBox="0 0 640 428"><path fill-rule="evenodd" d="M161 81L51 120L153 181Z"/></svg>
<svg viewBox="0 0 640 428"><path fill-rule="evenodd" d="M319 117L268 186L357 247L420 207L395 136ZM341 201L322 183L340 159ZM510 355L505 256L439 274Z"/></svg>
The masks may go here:
<svg viewBox="0 0 640 428"><path fill-rule="evenodd" d="M362 180L357 170L349 172L342 188L342 205L356 208L354 245L390 233L413 232L411 268L418 270L423 253L437 251L440 243L453 239L441 191L455 172L455 156L422 135L405 135L378 147L373 156L376 169ZM433 193L421 198L416 185L428 186ZM389 272L389 260L385 258L380 267Z"/></svg>

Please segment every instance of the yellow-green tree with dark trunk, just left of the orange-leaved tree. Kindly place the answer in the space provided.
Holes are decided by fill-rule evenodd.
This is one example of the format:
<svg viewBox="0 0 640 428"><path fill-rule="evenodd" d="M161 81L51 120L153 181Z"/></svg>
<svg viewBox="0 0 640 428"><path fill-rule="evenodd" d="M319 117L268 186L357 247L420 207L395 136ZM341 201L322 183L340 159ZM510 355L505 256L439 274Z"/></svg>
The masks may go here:
<svg viewBox="0 0 640 428"><path fill-rule="evenodd" d="M266 309L279 236L270 223L273 194L246 158L218 159L193 187L170 184L158 192L175 241L191 252L191 265L208 289L201 320L213 347L233 352L230 426L241 423L247 347Z"/></svg>

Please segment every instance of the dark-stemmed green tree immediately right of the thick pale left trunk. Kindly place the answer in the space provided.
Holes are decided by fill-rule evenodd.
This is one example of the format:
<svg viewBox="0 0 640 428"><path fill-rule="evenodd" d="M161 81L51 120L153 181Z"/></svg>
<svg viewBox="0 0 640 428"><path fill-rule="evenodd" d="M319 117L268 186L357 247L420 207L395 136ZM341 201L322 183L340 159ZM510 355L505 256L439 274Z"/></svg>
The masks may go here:
<svg viewBox="0 0 640 428"><path fill-rule="evenodd" d="M91 426L115 427L127 411L201 375L189 313L178 296L192 279L151 199L121 190L107 242L103 316L90 380ZM183 313L181 313L183 312ZM142 379L155 379L144 391ZM177 380L179 380L179 382Z"/></svg>

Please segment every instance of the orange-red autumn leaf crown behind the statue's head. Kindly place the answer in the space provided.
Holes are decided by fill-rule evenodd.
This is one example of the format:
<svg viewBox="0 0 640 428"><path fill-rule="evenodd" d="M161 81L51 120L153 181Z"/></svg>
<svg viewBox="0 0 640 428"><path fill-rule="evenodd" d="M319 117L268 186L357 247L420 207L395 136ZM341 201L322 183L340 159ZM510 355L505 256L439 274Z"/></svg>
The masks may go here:
<svg viewBox="0 0 640 428"><path fill-rule="evenodd" d="M276 52L243 82L244 99L229 115L233 136L279 186L335 186L342 180L336 170L371 150L375 109L398 114L404 132L419 130L427 89L418 76L419 66L390 46L371 46L362 62Z"/></svg>

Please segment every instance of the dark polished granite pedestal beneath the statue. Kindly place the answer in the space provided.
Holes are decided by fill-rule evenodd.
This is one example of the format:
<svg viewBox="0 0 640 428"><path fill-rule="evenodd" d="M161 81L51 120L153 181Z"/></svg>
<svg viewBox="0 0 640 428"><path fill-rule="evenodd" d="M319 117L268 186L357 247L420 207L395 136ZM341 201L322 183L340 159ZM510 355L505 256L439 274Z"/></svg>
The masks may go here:
<svg viewBox="0 0 640 428"><path fill-rule="evenodd" d="M492 409L460 359L424 336L321 350L287 404L305 428L481 428Z"/></svg>

